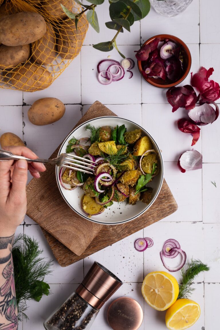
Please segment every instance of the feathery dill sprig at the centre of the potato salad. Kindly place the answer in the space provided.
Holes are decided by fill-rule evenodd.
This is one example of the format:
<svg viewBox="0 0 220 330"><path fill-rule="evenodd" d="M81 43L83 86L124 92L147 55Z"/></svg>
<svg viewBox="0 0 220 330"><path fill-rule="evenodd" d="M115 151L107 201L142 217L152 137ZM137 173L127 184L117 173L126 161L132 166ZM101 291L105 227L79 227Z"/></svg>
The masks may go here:
<svg viewBox="0 0 220 330"><path fill-rule="evenodd" d="M108 149L108 155L101 151L101 156L105 161L109 162L116 169L121 170L121 163L124 162L131 152L125 152L127 150L127 145L121 147L116 153L113 153L112 146Z"/></svg>

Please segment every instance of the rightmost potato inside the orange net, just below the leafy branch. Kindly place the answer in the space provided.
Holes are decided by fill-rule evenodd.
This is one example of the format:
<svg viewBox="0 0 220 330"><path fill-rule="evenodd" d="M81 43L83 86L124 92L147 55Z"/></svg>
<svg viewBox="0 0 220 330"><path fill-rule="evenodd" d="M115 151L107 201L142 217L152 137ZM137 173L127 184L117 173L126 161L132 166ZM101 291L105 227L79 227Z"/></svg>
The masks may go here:
<svg viewBox="0 0 220 330"><path fill-rule="evenodd" d="M73 59L79 54L87 29L88 21L84 14L79 18L77 30L73 21L61 25L57 48L63 59Z"/></svg>

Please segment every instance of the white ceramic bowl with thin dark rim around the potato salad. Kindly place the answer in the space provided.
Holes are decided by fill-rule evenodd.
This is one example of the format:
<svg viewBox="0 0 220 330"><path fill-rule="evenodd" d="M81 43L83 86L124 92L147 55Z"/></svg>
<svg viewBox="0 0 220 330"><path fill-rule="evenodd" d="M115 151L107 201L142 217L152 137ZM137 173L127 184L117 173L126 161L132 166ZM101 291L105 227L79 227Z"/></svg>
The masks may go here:
<svg viewBox="0 0 220 330"><path fill-rule="evenodd" d="M95 127L105 126L105 125L115 127L116 125L120 126L120 125L124 124L125 127L127 128L127 131L141 129L143 132L143 135L147 135L151 139L151 141L153 143L153 148L158 152L159 160L160 160L160 173L152 180L152 182L150 182L148 184L149 187L153 188L152 200L149 205L146 205L140 201L138 201L136 203L136 205L129 205L129 204L126 204L126 202L119 203L119 204L117 202L114 202L113 205L110 206L109 208L107 208L103 213L101 213L99 215L92 215L90 218L88 218L88 216L85 215L85 213L82 211L82 209L80 207L80 201L81 201L81 197L84 194L84 191L81 188L76 188L71 191L64 189L59 182L60 168L56 167L56 181L57 181L60 193L61 193L63 199L65 200L65 202L69 205L69 207L73 211L75 211L77 214L79 214L80 216L82 216L83 218L85 218L87 220L101 223L101 224L108 224L108 225L110 225L110 224L115 225L115 224L134 220L135 218L137 218L138 216L140 216L141 214L146 212L149 209L149 207L155 202L155 200L160 192L160 189L162 187L163 177L164 177L164 164L163 164L161 151L160 151L158 145L156 144L155 140L152 138L152 136L149 133L147 133L147 131L145 131L141 126L135 124L134 122L132 122L130 120L123 119L120 117L105 116L105 117L98 117L98 118L86 121L83 124L81 124L80 126L78 126L77 128L75 128L75 130L73 130L62 143L58 156L61 153L66 152L66 147L68 145L68 141L73 136L77 139L90 136L90 132L88 130L85 131L85 126L88 123L91 123Z"/></svg>

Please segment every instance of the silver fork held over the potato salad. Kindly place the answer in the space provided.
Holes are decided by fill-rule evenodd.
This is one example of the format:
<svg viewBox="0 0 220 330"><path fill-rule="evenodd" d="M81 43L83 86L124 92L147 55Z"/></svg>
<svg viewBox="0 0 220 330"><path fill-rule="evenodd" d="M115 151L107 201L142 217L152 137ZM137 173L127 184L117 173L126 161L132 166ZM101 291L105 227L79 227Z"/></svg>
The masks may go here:
<svg viewBox="0 0 220 330"><path fill-rule="evenodd" d="M79 172L84 172L88 174L94 174L96 163L90 159L82 158L71 153L62 153L56 158L53 159L30 159L23 156L14 155L12 152L7 150L0 149L0 161L10 160L10 159L25 159L28 162L36 162L36 163L49 163L54 164L56 166L63 166L70 168L71 170L77 170Z"/></svg>

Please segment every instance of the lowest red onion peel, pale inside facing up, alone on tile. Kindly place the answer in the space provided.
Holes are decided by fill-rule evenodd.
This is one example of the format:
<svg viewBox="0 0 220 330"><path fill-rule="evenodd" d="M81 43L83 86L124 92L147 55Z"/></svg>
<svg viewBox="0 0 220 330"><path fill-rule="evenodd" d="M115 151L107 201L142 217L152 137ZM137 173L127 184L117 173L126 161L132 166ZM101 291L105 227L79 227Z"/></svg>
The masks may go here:
<svg viewBox="0 0 220 330"><path fill-rule="evenodd" d="M185 151L179 157L177 165L182 173L189 170L199 170L203 165L203 156L194 149Z"/></svg>

